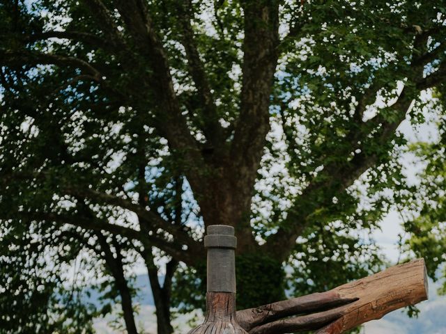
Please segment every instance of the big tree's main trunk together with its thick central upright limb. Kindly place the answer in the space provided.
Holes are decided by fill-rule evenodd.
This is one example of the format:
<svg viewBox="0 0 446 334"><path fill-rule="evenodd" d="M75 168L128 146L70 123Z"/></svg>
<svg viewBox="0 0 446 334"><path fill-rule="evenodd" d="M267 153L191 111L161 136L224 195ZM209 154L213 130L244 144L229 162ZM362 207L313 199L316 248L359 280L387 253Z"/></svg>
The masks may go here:
<svg viewBox="0 0 446 334"><path fill-rule="evenodd" d="M270 130L270 96L279 44L279 1L241 1L244 11L243 81L240 115L234 123L233 140L220 138L220 148L203 154L206 175L187 175L209 225L231 225L238 238L237 254L257 253L249 224L257 170ZM196 183L197 182L197 183Z"/></svg>

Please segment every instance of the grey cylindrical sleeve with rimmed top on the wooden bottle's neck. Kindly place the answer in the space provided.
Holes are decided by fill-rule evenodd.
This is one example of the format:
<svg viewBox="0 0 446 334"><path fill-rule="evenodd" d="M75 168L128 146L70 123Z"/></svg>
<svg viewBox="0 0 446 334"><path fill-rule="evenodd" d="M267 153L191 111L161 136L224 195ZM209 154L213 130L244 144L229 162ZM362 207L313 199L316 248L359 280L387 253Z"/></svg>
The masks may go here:
<svg viewBox="0 0 446 334"><path fill-rule="evenodd" d="M204 237L208 249L208 292L236 292L236 246L234 228L210 225Z"/></svg>

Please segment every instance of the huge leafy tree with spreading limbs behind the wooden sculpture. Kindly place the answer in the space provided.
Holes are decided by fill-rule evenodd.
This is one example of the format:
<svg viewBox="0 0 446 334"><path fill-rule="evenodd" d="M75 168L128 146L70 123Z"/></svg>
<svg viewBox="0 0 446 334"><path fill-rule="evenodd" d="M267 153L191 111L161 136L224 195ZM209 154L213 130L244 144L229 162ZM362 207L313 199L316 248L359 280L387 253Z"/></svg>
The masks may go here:
<svg viewBox="0 0 446 334"><path fill-rule="evenodd" d="M281 299L286 275L296 295L365 276L382 262L363 231L404 200L397 128L443 87L444 12L440 0L2 1L2 227L54 247L74 230L116 286L123 260L106 243L134 250L160 333L172 284L186 308L203 301L206 225L236 228L240 308Z"/></svg>

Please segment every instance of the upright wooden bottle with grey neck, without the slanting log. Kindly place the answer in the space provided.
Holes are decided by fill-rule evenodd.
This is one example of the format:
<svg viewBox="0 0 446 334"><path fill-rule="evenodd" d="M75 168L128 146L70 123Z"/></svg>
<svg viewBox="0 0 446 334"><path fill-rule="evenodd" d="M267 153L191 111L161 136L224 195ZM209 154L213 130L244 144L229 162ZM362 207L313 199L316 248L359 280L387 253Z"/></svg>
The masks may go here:
<svg viewBox="0 0 446 334"><path fill-rule="evenodd" d="M227 225L211 225L204 238L208 249L208 291L206 319L189 334L245 334L236 319L237 238Z"/></svg>

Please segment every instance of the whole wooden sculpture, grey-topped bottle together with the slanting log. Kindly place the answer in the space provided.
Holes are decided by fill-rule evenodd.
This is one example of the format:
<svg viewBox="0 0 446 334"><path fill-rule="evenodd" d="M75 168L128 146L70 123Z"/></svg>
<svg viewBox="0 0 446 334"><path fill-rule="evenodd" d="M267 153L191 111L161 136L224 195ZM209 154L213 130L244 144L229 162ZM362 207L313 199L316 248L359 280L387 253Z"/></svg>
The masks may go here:
<svg viewBox="0 0 446 334"><path fill-rule="evenodd" d="M428 296L426 267L418 259L328 292L236 312L236 244L231 226L208 227L206 319L189 334L339 334Z"/></svg>

